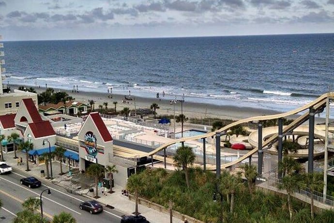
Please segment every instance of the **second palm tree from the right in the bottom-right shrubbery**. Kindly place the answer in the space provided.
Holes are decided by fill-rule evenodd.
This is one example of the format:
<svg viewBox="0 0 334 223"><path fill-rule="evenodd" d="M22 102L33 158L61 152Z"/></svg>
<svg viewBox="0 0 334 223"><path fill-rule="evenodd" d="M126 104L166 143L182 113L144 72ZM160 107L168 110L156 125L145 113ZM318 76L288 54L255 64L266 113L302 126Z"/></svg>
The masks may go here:
<svg viewBox="0 0 334 223"><path fill-rule="evenodd" d="M292 220L291 195L300 187L301 184L296 175L285 175L282 179L282 184L278 185L279 189L287 191L290 221Z"/></svg>

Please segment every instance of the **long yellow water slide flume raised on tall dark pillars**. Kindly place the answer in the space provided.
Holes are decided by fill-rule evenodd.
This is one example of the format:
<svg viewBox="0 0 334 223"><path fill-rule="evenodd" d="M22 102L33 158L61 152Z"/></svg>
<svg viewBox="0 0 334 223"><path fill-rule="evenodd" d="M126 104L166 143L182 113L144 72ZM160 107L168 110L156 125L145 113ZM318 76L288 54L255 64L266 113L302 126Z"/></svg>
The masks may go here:
<svg viewBox="0 0 334 223"><path fill-rule="evenodd" d="M284 117L288 117L290 115L294 115L297 114L299 112L303 112L307 109L310 108L314 108L316 113L317 112L321 112L324 107L326 106L326 99L327 97L332 98L334 97L334 92L331 93L326 93L323 94L321 96L319 96L317 99L315 99L314 101L300 107L297 109L294 109L292 111L289 112L284 112L284 113L279 113L279 114L273 114L273 115L262 115L262 116L255 116L255 117L250 117L250 118L245 118L245 119L241 119L238 120L234 123L231 123L225 127L222 127L218 130L216 130L215 132L209 132L207 134L203 134L203 135L199 135L199 136L193 136L193 137L187 137L187 138L180 138L180 139L175 139L169 143L165 143L161 146L159 146L158 148L154 149L152 152L150 153L145 153L145 154L141 154L140 157L145 157L145 156L151 156L156 154L157 152L163 150L164 148L167 148L168 146L175 144L175 143L182 143L185 141L191 141L191 140L198 140L198 139L202 139L202 138L208 138L208 137L212 137L215 136L216 132L223 132L223 131L227 131L229 128L243 124L243 123L247 123L247 122L252 122L252 121L262 121L262 120L270 120L270 119L278 119L278 118L284 118ZM293 130L294 128L298 127L299 125L301 125L302 123L304 123L306 120L308 120L309 118L309 111L305 112L303 115L299 116L297 119L295 119L291 124L289 124L288 126L286 126L283 129L283 134ZM268 140L266 140L263 144L262 147L268 146L273 144L274 142L277 141L277 137L278 134L274 134L273 136L271 136ZM228 162L225 163L223 165L221 165L221 169L225 169L228 167L231 167L232 165L235 165L241 161L243 161L244 159L247 159L248 157L252 156L253 154L255 154L258 151L258 148L254 148L252 150L250 150L247 154L243 155L243 157L241 157L240 159L236 159L232 162ZM208 170L215 170L216 168L213 166L209 166L207 167Z"/></svg>

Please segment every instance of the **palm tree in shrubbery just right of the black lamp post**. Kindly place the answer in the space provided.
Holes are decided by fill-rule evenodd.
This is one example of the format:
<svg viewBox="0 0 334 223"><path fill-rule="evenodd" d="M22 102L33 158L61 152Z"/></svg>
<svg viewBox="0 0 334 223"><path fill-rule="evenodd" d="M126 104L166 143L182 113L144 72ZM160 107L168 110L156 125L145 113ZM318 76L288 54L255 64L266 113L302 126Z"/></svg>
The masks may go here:
<svg viewBox="0 0 334 223"><path fill-rule="evenodd" d="M224 171L226 172L226 171ZM231 195L230 212L234 210L234 194L242 187L243 182L240 175L230 175L228 172L221 175L219 190Z"/></svg>

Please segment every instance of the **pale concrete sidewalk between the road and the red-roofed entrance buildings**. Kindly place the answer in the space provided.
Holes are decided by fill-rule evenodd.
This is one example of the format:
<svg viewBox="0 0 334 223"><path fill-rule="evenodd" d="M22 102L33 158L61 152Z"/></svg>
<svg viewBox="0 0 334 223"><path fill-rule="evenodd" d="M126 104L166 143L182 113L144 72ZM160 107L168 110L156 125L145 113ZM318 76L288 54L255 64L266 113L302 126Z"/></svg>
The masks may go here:
<svg viewBox="0 0 334 223"><path fill-rule="evenodd" d="M4 155L4 159L6 160L7 164L12 166L14 170L20 170L20 171L25 171L26 170L26 156L25 153L17 151L17 157L22 157L24 165L17 165L17 160L13 159L14 153L8 153ZM50 167L49 167L50 168ZM85 182L79 182L79 178L76 179L76 176L79 177L79 175L74 175L74 176L68 176L68 175L59 175L60 173L60 163L57 161L52 162L52 172L53 172L53 180L48 180L46 178L41 177L41 170L46 170L45 164L40 164L38 166L33 166L32 163L29 163L29 169L31 171L25 172L29 175L35 176L36 178L42 179L44 182L49 181L54 183L55 185L60 186L61 188L64 188L66 191L70 192L75 192L80 195L83 195L85 197L88 197L89 199L93 199L89 195L90 192L88 189L82 190L80 188L80 183L85 183ZM63 172L68 171L68 166L64 165L62 166ZM45 171L46 174L46 171ZM77 181L77 184L74 183ZM42 182L43 182L42 181ZM91 188L95 187L91 185ZM115 185L115 187L112 189L115 191L114 193L106 193L106 196L101 195L101 191L99 192L100 198L97 199L100 203L108 206L115 207L115 210L118 210L120 212L126 213L128 215L131 215L135 211L135 202L130 201L127 196L124 196L121 194L121 190L124 188L121 188L121 186ZM108 190L106 190L108 191ZM94 192L95 193L95 192ZM107 210L107 208L106 208ZM143 205L138 205L138 211L146 217L148 221L151 223L169 223L169 215L165 213L161 213L158 210L143 206ZM173 217L173 223L183 223L182 220L177 219Z"/></svg>

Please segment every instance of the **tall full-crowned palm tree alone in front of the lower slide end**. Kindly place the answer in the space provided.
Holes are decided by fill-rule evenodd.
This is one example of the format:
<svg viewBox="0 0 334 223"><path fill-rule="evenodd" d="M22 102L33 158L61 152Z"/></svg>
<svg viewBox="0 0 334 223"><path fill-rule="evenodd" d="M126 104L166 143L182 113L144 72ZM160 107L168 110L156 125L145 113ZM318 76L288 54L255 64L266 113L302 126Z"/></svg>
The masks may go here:
<svg viewBox="0 0 334 223"><path fill-rule="evenodd" d="M188 165L192 165L196 159L195 153L189 146L180 146L176 149L174 156L174 163L178 167L182 167L185 173L185 182L187 187L190 188Z"/></svg>

